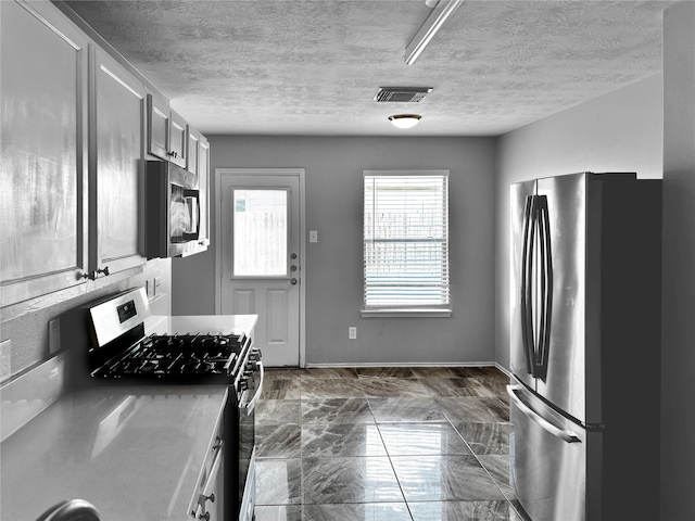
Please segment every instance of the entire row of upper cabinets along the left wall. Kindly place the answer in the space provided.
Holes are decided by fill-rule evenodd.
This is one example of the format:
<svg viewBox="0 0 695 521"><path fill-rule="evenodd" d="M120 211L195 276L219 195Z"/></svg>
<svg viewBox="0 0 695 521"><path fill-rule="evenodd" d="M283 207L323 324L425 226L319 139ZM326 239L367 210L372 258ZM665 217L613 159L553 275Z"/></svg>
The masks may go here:
<svg viewBox="0 0 695 521"><path fill-rule="evenodd" d="M204 176L207 244L206 141L72 14L0 0L1 307L147 263L152 155Z"/></svg>

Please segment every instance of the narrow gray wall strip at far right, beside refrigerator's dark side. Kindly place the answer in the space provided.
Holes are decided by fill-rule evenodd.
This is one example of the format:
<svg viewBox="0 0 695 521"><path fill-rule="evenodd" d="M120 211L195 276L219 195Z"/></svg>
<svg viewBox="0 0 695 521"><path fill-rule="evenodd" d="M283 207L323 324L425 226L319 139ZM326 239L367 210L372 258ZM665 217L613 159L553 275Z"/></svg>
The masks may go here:
<svg viewBox="0 0 695 521"><path fill-rule="evenodd" d="M695 519L695 3L664 18L661 519Z"/></svg>

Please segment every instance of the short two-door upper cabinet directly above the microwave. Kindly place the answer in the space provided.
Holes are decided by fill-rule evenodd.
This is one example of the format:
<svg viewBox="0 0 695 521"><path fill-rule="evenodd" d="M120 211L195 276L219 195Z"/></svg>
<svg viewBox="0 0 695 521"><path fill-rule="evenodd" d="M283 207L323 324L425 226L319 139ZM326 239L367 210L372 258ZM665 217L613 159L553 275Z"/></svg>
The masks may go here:
<svg viewBox="0 0 695 521"><path fill-rule="evenodd" d="M187 167L188 125L164 99L148 94L148 153Z"/></svg>

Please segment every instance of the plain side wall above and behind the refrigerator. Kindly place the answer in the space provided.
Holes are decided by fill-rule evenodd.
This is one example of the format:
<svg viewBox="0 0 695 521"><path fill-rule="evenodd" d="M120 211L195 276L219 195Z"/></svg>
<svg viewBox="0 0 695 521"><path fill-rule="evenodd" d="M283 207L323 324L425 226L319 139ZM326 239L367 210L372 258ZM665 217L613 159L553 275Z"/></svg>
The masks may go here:
<svg viewBox="0 0 695 521"><path fill-rule="evenodd" d="M576 171L662 173L662 77L655 75L498 138L495 359L509 367L509 185Z"/></svg>

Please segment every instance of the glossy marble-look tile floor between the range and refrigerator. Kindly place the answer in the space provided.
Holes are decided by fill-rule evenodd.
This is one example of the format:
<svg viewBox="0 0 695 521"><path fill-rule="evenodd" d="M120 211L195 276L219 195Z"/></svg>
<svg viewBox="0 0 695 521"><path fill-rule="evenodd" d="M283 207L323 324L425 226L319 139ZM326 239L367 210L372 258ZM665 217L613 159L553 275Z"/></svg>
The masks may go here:
<svg viewBox="0 0 695 521"><path fill-rule="evenodd" d="M256 521L523 521L493 367L266 370Z"/></svg>

